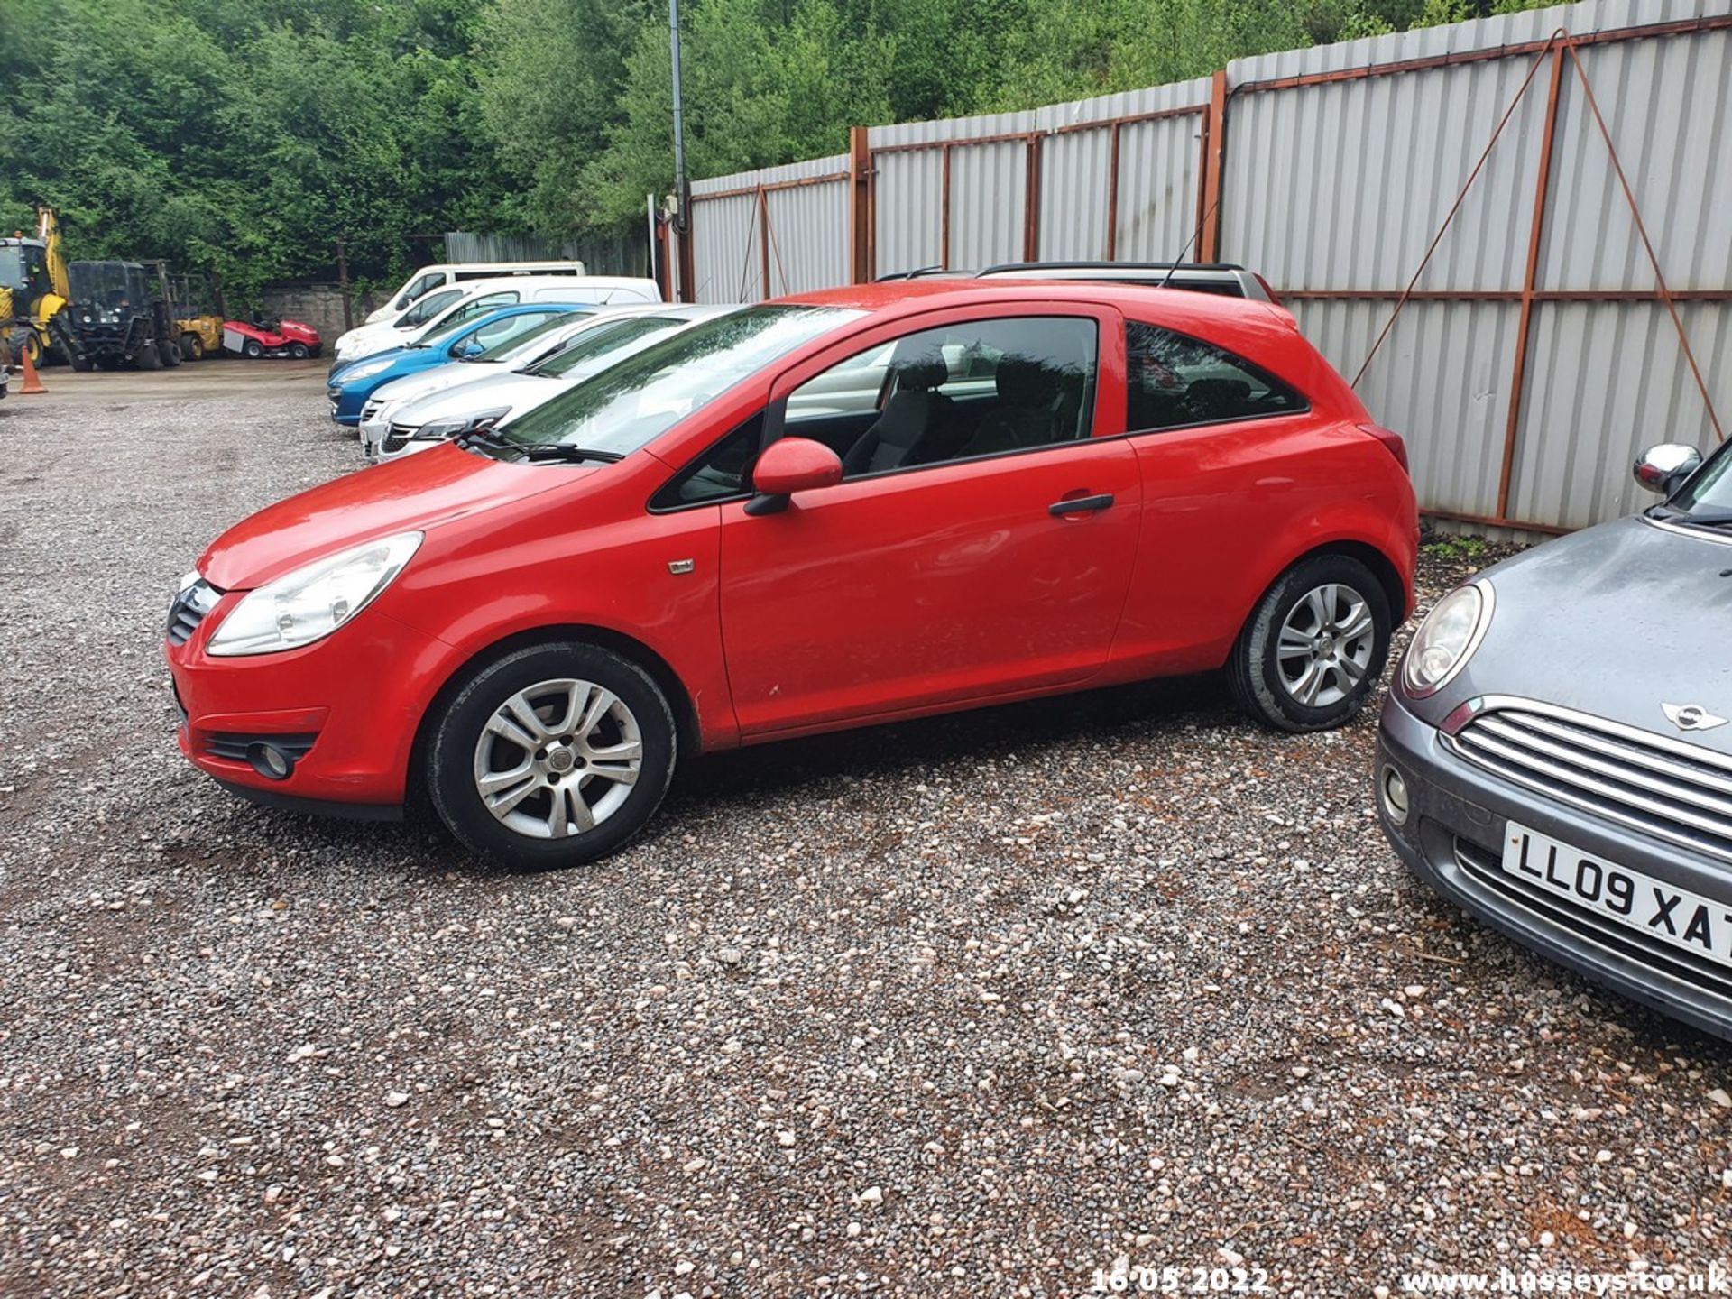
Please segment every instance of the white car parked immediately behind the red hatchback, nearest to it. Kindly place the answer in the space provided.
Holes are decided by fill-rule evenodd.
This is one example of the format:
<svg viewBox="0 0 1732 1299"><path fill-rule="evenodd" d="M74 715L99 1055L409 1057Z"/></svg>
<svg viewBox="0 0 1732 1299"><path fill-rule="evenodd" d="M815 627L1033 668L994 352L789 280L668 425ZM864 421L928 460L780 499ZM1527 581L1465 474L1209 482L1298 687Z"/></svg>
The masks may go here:
<svg viewBox="0 0 1732 1299"><path fill-rule="evenodd" d="M727 315L738 307L660 307L648 312L620 312L598 317L589 329L572 338L559 352L533 365L457 388L404 402L391 410L383 436L362 433L362 454L369 464L412 456L447 442L459 433L475 433L502 424L525 410L533 410L566 393L584 379L625 360L663 338L689 329L698 320ZM376 428L379 428L376 424Z"/></svg>

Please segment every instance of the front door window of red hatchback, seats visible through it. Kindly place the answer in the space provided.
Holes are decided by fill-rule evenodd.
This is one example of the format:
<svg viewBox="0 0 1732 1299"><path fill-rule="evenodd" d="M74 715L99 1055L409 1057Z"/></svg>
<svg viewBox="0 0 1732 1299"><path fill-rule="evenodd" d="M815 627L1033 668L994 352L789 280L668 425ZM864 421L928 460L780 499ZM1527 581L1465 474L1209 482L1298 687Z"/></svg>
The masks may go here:
<svg viewBox="0 0 1732 1299"><path fill-rule="evenodd" d="M843 478L1089 435L1098 329L1084 317L968 320L857 353L788 395L785 431Z"/></svg>

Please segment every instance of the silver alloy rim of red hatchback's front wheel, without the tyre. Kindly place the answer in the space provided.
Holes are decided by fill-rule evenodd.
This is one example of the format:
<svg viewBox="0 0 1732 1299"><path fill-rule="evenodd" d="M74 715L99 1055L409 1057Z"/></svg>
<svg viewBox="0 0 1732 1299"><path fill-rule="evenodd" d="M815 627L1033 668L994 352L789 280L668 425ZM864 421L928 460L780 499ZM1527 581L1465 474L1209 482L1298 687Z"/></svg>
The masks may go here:
<svg viewBox="0 0 1732 1299"><path fill-rule="evenodd" d="M637 719L591 681L542 681L501 703L475 745L475 790L506 828L568 838L620 811L643 769Z"/></svg>

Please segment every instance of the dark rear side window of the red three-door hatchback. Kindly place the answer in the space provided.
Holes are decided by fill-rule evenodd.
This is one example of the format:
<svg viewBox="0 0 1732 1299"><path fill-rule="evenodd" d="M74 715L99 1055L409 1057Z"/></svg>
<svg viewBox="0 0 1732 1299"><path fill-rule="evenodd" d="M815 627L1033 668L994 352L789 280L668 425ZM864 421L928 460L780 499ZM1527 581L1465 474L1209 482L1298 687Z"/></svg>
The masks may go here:
<svg viewBox="0 0 1732 1299"><path fill-rule="evenodd" d="M1126 428L1147 433L1304 410L1304 398L1244 357L1171 329L1126 324Z"/></svg>

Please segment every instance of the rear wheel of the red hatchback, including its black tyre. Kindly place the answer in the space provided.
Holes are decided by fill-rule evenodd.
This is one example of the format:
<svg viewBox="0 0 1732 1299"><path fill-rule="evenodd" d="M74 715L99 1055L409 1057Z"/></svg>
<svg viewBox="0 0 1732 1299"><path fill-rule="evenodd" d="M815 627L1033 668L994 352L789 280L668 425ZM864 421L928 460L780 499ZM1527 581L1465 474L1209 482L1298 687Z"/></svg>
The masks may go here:
<svg viewBox="0 0 1732 1299"><path fill-rule="evenodd" d="M1327 731L1365 707L1394 622L1382 582L1358 559L1301 559L1271 585L1233 646L1228 688L1278 731Z"/></svg>

